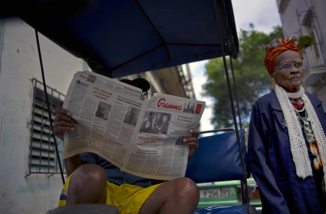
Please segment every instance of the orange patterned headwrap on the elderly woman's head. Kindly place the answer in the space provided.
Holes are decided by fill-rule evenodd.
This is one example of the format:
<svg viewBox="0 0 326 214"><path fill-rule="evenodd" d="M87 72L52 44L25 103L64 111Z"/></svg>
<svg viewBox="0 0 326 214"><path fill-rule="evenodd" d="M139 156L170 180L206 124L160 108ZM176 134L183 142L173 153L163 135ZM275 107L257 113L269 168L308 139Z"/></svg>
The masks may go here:
<svg viewBox="0 0 326 214"><path fill-rule="evenodd" d="M284 51L293 50L300 53L301 59L304 59L302 52L299 49L299 42L296 36L289 37L287 41L276 38L266 45L265 67L270 76L273 75L276 58Z"/></svg>

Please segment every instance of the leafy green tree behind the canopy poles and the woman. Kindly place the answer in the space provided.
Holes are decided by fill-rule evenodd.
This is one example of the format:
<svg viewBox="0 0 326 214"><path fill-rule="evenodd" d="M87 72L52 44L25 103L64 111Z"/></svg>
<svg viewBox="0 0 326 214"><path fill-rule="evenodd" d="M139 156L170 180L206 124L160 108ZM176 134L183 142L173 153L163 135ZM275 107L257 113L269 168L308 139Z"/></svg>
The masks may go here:
<svg viewBox="0 0 326 214"><path fill-rule="evenodd" d="M232 60L232 63L241 122L245 127L248 126L251 109L255 101L272 88L271 77L264 65L265 46L277 37L283 38L280 25L273 27L273 29L274 31L267 35L256 31L251 23L249 31L240 30L239 56L236 60ZM237 115L229 58L227 58L227 66ZM204 95L212 97L215 101L213 106L214 116L211 123L215 128L232 127L234 123L222 57L212 59L206 64L206 75L207 83L203 85Z"/></svg>

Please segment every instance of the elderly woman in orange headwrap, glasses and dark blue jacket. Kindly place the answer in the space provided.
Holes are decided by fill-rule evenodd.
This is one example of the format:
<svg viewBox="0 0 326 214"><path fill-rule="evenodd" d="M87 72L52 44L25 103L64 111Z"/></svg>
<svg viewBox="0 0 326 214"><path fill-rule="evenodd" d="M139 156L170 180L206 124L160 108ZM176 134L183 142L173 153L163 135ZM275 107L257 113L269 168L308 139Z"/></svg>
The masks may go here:
<svg viewBox="0 0 326 214"><path fill-rule="evenodd" d="M249 165L263 213L325 213L326 117L304 90L303 55L296 37L266 46L274 90L254 104Z"/></svg>

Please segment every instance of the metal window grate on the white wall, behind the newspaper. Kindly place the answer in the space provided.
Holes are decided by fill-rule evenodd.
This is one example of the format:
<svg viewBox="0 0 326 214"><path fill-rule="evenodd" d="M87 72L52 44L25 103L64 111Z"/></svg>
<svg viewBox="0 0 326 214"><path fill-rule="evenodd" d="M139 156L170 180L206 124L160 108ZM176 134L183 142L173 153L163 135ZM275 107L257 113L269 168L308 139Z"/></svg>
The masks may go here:
<svg viewBox="0 0 326 214"><path fill-rule="evenodd" d="M32 79L32 82L34 86L34 93L28 175L31 173L60 173L55 144L53 141L52 132L50 131L50 121L47 113L43 83L35 78ZM48 86L46 87L51 116L52 120L54 120L56 117L56 109L59 107L62 108L65 95ZM60 160L61 163L63 163L63 141L58 137L56 137L56 140L58 144Z"/></svg>

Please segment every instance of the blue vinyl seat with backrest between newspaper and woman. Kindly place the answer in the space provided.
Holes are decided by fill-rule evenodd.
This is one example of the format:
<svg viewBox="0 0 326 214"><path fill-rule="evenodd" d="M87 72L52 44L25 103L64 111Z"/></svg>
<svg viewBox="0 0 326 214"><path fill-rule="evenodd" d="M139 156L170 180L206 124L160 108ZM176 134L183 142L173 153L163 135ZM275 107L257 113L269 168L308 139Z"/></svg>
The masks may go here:
<svg viewBox="0 0 326 214"><path fill-rule="evenodd" d="M246 169L246 176L249 177L244 129L239 130L239 137L244 168ZM243 179L235 131L200 138L198 141L199 148L189 159L185 177L196 183ZM194 214L208 213L248 213L248 211L247 204L239 204L204 207L194 212ZM253 205L251 205L251 213L257 213Z"/></svg>

